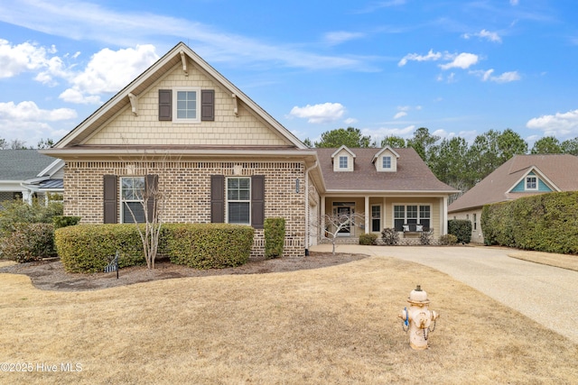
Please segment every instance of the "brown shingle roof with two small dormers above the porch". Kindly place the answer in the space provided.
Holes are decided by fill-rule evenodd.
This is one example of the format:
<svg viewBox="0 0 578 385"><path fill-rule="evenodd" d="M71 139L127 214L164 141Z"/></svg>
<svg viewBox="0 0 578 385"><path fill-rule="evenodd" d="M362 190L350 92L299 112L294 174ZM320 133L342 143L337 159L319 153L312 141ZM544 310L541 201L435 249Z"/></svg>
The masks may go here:
<svg viewBox="0 0 578 385"><path fill-rule="evenodd" d="M356 154L352 172L335 172L331 156L337 149L314 149L317 151L327 192L363 193L436 193L443 195L458 192L433 175L417 152L412 148L396 149L399 155L396 172L378 172L372 163L381 151L376 148L350 149Z"/></svg>

